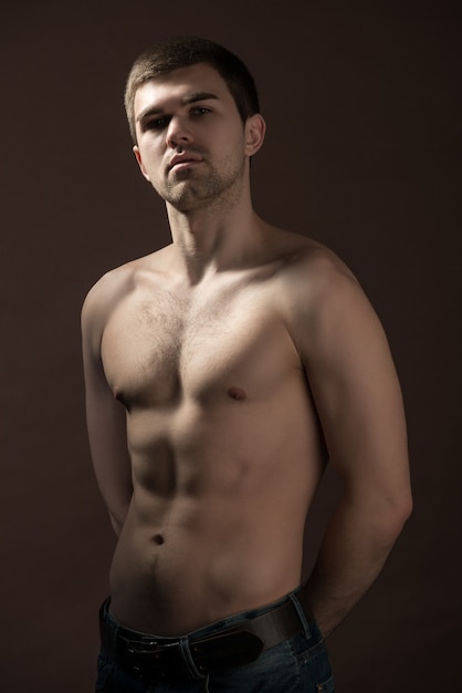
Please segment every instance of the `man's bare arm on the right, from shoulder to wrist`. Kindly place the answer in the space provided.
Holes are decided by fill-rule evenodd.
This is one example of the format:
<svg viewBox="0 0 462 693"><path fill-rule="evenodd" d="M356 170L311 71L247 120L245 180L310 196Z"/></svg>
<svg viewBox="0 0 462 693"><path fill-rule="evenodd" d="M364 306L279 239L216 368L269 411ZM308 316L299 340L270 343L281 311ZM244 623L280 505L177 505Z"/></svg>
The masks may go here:
<svg viewBox="0 0 462 693"><path fill-rule="evenodd" d="M411 510L401 392L377 316L342 266L321 262L301 351L343 493L307 590L328 635L380 572Z"/></svg>

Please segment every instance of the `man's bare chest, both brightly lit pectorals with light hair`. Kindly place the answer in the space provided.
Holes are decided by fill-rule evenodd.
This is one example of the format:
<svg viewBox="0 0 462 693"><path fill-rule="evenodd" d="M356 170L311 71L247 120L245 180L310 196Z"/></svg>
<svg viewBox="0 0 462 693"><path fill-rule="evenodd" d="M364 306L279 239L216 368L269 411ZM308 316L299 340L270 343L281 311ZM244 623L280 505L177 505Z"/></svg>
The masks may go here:
<svg viewBox="0 0 462 693"><path fill-rule="evenodd" d="M197 302L134 293L109 320L102 356L115 396L128 407L264 396L297 360L274 297L262 290Z"/></svg>

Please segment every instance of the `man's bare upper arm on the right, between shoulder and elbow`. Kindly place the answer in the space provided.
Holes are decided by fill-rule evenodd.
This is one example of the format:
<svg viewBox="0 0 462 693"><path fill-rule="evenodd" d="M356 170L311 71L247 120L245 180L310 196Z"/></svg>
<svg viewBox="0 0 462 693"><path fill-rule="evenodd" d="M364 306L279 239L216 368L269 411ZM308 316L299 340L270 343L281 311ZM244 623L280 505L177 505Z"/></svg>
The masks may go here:
<svg viewBox="0 0 462 693"><path fill-rule="evenodd" d="M315 352L311 383L330 458L344 479L385 494L402 484L402 396L378 319L360 314L349 323L340 321Z"/></svg>

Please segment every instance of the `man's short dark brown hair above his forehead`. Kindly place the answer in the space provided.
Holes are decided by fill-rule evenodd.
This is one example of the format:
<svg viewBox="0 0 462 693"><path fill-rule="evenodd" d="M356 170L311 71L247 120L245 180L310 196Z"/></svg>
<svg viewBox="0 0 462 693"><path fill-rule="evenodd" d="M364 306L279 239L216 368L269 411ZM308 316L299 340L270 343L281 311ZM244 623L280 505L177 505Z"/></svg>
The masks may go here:
<svg viewBox="0 0 462 693"><path fill-rule="evenodd" d="M144 51L134 62L125 87L125 110L133 141L136 143L134 102L136 91L149 80L208 63L224 80L243 123L260 112L255 82L244 63L219 43L199 37L175 37Z"/></svg>

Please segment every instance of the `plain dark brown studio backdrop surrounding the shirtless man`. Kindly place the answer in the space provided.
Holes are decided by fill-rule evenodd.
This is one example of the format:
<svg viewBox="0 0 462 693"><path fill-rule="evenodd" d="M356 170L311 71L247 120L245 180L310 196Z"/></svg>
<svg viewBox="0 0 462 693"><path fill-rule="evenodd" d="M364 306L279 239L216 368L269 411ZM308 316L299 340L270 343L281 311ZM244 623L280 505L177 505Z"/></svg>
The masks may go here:
<svg viewBox="0 0 462 693"><path fill-rule="evenodd" d="M2 690L92 691L114 539L80 307L106 269L169 238L122 92L137 53L174 33L248 62L269 123L255 207L350 265L401 376L416 509L330 639L338 691L459 690L461 23L444 1L328 0L1 6Z"/></svg>

